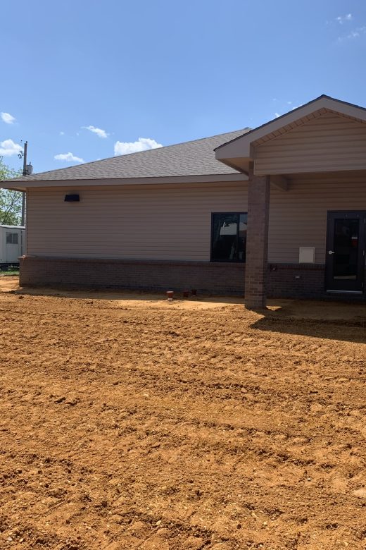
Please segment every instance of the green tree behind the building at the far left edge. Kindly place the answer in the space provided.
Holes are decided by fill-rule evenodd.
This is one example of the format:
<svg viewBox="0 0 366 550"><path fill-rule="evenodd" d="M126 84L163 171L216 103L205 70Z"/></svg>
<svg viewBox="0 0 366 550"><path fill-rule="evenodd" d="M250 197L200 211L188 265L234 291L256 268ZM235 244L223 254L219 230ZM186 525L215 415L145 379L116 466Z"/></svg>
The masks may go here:
<svg viewBox="0 0 366 550"><path fill-rule="evenodd" d="M14 170L4 164L0 157L0 181L18 178L22 171ZM22 193L20 191L11 191L0 189L0 224L8 226L18 226L22 216Z"/></svg>

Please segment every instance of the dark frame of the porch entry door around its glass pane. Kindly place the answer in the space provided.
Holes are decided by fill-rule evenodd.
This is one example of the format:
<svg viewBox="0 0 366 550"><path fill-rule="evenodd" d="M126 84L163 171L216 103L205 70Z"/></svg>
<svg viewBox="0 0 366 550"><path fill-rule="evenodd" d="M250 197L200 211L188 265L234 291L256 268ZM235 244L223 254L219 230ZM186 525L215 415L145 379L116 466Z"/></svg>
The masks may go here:
<svg viewBox="0 0 366 550"><path fill-rule="evenodd" d="M339 281L334 288L333 255L329 255L334 245L334 220L336 218L360 220L358 232L358 270L355 281ZM333 222L333 223L332 223ZM362 294L365 291L365 250L366 250L366 211L365 210L328 210L327 211L327 240L325 250L325 291L329 293ZM353 284L352 284L353 283ZM352 286L354 288L352 288Z"/></svg>

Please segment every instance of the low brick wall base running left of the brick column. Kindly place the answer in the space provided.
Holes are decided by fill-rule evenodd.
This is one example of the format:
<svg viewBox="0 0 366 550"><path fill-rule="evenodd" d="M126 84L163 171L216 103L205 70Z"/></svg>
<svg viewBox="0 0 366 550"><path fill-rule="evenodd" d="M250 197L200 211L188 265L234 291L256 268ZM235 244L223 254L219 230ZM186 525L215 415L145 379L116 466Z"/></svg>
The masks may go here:
<svg viewBox="0 0 366 550"><path fill-rule="evenodd" d="M20 258L21 286L128 288L244 295L245 265L163 260Z"/></svg>

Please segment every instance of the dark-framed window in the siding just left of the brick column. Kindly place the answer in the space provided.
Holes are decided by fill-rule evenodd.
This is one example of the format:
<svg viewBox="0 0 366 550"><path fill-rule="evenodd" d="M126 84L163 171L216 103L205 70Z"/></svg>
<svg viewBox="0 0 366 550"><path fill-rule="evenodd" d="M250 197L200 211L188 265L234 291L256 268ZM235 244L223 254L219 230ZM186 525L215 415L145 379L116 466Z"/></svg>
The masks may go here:
<svg viewBox="0 0 366 550"><path fill-rule="evenodd" d="M211 262L245 262L246 212L212 214Z"/></svg>

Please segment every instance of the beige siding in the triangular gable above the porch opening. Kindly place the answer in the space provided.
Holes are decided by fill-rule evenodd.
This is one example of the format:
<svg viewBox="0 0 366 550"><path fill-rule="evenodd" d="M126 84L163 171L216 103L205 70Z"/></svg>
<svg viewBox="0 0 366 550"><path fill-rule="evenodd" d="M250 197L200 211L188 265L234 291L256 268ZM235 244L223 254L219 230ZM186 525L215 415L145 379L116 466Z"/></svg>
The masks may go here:
<svg viewBox="0 0 366 550"><path fill-rule="evenodd" d="M366 169L366 123L325 112L255 147L255 173Z"/></svg>

